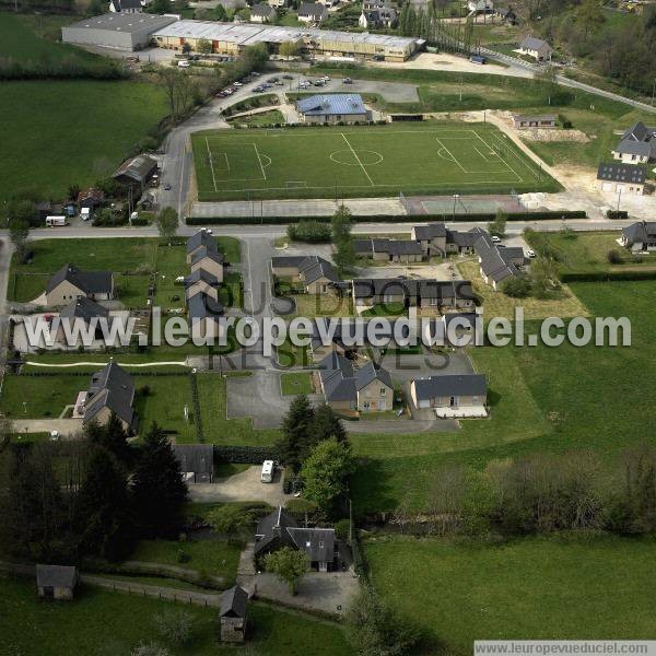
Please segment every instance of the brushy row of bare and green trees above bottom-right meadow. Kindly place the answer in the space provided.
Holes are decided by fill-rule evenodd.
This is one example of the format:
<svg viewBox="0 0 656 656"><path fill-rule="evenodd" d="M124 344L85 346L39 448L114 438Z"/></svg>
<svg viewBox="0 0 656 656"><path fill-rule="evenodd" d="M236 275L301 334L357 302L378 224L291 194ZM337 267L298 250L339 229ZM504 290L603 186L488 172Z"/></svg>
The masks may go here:
<svg viewBox="0 0 656 656"><path fill-rule="evenodd" d="M401 526L417 516L410 512L412 492L397 508ZM656 448L631 448L610 468L588 452L492 460L483 471L443 467L429 481L421 515L437 535L654 532Z"/></svg>

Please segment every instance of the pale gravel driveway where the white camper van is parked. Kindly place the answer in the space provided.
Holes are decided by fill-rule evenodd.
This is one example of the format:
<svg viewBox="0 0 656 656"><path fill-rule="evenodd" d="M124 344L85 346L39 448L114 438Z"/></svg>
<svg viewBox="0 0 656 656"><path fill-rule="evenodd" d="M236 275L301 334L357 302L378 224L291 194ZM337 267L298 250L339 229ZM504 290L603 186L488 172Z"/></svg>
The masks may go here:
<svg viewBox="0 0 656 656"><path fill-rule="evenodd" d="M277 471L276 480L272 483L262 483L260 476L261 467L255 465L215 483L189 485L189 496L191 501L202 503L263 501L274 507L284 505L291 499L290 494L284 494L282 491L281 471Z"/></svg>

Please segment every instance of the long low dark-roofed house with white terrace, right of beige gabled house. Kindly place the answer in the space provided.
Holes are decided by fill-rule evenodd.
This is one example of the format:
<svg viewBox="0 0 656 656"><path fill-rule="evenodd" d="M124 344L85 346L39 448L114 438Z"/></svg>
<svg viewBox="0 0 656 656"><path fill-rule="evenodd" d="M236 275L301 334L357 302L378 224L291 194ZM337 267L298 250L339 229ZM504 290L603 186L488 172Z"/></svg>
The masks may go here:
<svg viewBox="0 0 656 656"><path fill-rule="evenodd" d="M419 409L433 408L437 417L485 417L488 382L482 374L442 374L414 378L412 402Z"/></svg>

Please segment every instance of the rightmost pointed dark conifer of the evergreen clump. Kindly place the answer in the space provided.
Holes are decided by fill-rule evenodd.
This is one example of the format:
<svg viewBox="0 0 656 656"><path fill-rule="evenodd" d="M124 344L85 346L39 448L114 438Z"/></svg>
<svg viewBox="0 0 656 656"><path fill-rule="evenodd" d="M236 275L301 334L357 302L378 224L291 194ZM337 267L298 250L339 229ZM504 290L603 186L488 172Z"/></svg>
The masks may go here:
<svg viewBox="0 0 656 656"><path fill-rule="evenodd" d="M145 435L132 491L141 534L175 536L184 520L187 485L171 443L156 423Z"/></svg>

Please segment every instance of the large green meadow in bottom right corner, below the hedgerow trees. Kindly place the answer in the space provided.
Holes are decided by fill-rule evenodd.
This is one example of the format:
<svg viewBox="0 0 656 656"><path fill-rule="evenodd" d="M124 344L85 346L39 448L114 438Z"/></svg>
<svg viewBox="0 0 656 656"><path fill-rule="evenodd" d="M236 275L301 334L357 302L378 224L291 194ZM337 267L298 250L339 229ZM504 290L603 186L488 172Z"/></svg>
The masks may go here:
<svg viewBox="0 0 656 656"><path fill-rule="evenodd" d="M365 555L383 598L444 653L471 654L475 640L656 635L645 585L656 566L654 539L554 536L475 546L396 537L367 541Z"/></svg>

